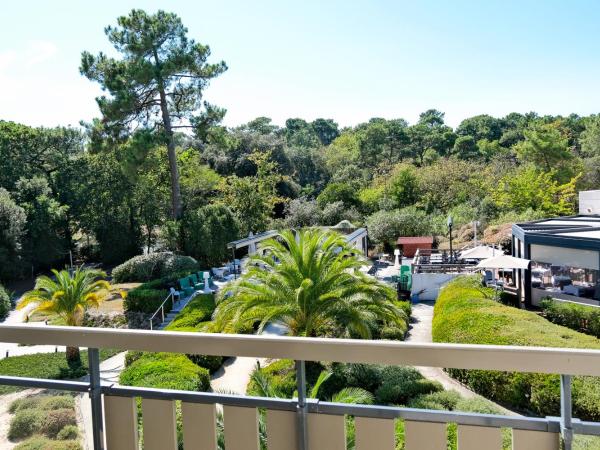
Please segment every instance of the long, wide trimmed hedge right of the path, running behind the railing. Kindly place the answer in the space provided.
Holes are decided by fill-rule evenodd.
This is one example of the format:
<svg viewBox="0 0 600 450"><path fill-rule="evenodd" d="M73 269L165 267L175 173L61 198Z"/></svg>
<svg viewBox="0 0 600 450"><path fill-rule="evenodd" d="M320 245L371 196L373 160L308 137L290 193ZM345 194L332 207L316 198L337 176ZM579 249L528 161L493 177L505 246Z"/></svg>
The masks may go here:
<svg viewBox="0 0 600 450"><path fill-rule="evenodd" d="M433 318L434 342L600 349L600 340L548 322L536 313L493 301L477 277L459 277L440 292ZM449 369L479 394L517 410L558 415L558 375ZM575 377L573 412L600 420L600 379Z"/></svg>

